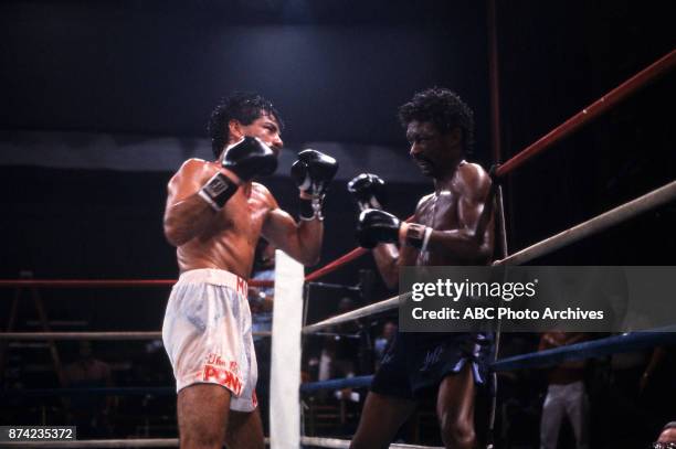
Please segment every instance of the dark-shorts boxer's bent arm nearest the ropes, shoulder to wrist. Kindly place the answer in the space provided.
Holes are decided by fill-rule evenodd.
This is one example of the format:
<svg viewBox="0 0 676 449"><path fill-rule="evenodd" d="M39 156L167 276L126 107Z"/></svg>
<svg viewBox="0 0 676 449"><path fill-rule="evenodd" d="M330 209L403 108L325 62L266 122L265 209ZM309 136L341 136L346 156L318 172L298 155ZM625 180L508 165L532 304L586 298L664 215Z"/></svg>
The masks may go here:
<svg viewBox="0 0 676 449"><path fill-rule="evenodd" d="M453 253L458 257L477 260L493 255L494 214L490 193L490 178L480 169L468 170L465 185L458 197L458 227L448 231L432 231L427 242L429 250ZM402 234L406 234L403 224Z"/></svg>

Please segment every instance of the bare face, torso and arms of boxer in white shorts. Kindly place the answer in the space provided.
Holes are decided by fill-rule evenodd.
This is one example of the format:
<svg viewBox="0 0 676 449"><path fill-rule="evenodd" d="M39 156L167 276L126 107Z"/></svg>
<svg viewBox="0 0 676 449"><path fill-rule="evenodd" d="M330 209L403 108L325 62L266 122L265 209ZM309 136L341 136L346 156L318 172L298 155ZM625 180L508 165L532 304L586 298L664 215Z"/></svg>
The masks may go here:
<svg viewBox="0 0 676 449"><path fill-rule="evenodd" d="M241 136L258 137L277 153L282 148L278 126L263 115L251 125L231 121L231 142ZM323 225L319 221L297 224L282 211L262 184L242 183L225 206L215 212L198 192L219 171L239 182L219 162L190 159L169 181L165 211L165 234L177 247L180 271L218 268L247 278L260 236L304 265L319 257Z"/></svg>

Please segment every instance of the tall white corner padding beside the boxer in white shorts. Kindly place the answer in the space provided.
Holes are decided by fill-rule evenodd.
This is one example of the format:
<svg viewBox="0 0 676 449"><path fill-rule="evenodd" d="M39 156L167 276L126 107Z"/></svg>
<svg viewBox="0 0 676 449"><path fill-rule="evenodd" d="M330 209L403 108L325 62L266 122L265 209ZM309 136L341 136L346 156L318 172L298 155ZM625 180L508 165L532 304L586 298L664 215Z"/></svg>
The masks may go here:
<svg viewBox="0 0 676 449"><path fill-rule="evenodd" d="M300 330L304 282L303 265L277 249L270 371L271 449L297 449L300 446Z"/></svg>

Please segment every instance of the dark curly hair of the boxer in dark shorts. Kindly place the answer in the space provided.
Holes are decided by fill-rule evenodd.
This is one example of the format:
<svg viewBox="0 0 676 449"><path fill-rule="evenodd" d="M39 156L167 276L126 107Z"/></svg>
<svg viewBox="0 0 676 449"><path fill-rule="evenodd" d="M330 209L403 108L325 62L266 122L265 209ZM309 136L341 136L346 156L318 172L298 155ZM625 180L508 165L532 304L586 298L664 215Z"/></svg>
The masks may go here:
<svg viewBox="0 0 676 449"><path fill-rule="evenodd" d="M411 121L430 121L441 133L455 127L463 130L463 148L474 147L474 111L452 90L432 87L413 95L411 101L399 108L399 121L405 128Z"/></svg>

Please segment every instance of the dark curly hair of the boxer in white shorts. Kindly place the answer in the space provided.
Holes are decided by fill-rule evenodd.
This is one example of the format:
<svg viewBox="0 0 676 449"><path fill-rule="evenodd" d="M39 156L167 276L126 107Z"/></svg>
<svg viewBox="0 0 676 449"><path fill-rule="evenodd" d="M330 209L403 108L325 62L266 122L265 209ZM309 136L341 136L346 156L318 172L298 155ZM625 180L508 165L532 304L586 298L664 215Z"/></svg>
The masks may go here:
<svg viewBox="0 0 676 449"><path fill-rule="evenodd" d="M279 113L273 104L261 95L252 92L235 92L221 99L221 103L211 113L207 129L211 136L211 151L218 158L228 145L230 120L237 120L242 125L251 125L263 114L268 114L277 120L279 130L284 129L284 122Z"/></svg>

